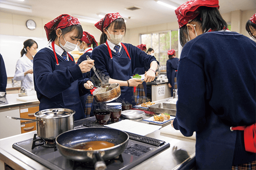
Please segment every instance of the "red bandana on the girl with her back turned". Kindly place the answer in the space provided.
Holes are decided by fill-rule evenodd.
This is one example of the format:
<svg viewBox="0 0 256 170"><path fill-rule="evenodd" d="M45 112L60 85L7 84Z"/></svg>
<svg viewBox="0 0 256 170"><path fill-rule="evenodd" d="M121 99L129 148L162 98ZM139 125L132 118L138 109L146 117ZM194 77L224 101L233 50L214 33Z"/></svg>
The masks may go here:
<svg viewBox="0 0 256 170"><path fill-rule="evenodd" d="M199 15L198 7L208 6L212 8L220 7L218 0L189 0L175 9L175 14L179 23L179 28L190 23Z"/></svg>

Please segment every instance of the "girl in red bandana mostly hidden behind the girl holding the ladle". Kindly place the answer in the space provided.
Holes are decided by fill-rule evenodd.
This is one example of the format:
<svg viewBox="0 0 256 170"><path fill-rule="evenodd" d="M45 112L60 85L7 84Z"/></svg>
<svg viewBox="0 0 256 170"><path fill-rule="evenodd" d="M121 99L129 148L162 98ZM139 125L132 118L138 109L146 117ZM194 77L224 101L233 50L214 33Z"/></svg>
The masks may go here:
<svg viewBox="0 0 256 170"><path fill-rule="evenodd" d="M79 57L77 64L80 64L84 60L87 60L86 56L90 57L90 54L93 51L93 48L91 48L91 46L93 46L93 48L96 48L98 46L98 42L95 40L93 35L83 31L83 37L81 38L81 40L79 40L77 48L78 48L78 51L84 52L84 54ZM84 78L90 79L91 72L88 71L87 73L84 73L83 76ZM90 114L93 98L94 98L93 95L90 93L80 97L83 108L84 108L84 114L86 117L93 116L93 114Z"/></svg>

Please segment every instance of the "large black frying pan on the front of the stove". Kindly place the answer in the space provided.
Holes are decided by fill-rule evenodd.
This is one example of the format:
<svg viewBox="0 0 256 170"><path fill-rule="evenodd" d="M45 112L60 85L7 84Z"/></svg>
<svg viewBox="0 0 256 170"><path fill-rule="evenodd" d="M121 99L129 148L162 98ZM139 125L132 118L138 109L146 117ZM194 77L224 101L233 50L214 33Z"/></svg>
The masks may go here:
<svg viewBox="0 0 256 170"><path fill-rule="evenodd" d="M109 127L88 127L66 131L58 135L55 140L59 152L67 159L92 162L95 170L105 170L107 166L104 160L120 155L128 145L129 136L122 130ZM92 141L106 141L115 145L100 150L72 148Z"/></svg>

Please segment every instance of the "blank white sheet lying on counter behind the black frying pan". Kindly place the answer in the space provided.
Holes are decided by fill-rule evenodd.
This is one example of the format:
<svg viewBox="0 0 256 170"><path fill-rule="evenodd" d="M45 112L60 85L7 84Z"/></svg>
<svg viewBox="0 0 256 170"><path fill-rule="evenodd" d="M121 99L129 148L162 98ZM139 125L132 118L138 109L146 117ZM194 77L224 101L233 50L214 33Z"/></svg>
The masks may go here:
<svg viewBox="0 0 256 170"><path fill-rule="evenodd" d="M123 130L130 133L135 133L142 136L145 136L148 133L152 133L162 127L159 125L149 125L146 123L135 122L127 119L113 123L111 125L104 126L112 127L114 129Z"/></svg>

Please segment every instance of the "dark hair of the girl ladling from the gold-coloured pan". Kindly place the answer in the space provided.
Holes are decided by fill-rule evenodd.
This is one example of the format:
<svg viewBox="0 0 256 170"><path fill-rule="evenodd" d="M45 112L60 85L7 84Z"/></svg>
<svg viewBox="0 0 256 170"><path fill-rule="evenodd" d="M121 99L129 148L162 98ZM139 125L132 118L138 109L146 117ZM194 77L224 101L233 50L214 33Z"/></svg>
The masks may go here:
<svg viewBox="0 0 256 170"><path fill-rule="evenodd" d="M61 32L62 32L62 34L64 36L68 32L73 31L74 29L76 29L77 32L78 32L78 34L76 35L75 38L81 39L83 37L83 28L82 28L81 25L74 25L74 26L69 26L69 27L66 27L66 28L61 28ZM55 41L55 39L57 37L55 29L53 29L50 32L49 37L50 37L50 42Z"/></svg>

